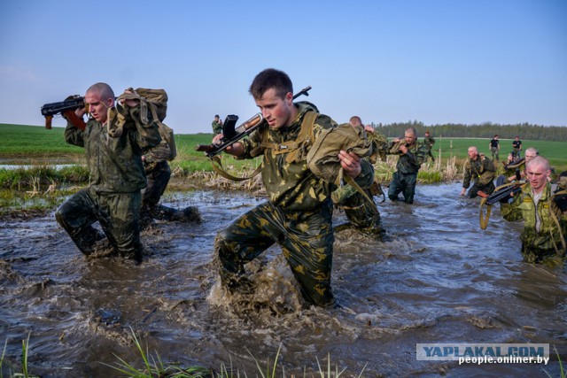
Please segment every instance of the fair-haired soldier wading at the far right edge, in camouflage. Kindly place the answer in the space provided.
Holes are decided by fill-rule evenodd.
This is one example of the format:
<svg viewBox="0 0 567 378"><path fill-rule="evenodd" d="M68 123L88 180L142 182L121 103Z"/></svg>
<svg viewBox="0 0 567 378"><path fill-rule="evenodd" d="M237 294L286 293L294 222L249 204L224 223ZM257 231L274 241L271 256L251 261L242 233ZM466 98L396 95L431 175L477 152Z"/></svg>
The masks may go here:
<svg viewBox="0 0 567 378"><path fill-rule="evenodd" d="M567 212L563 197L552 196L548 177L551 174L546 158L535 157L526 163L529 185L509 199L501 201L501 214L505 220L524 220L520 235L524 261L541 263L548 258L564 258L567 235ZM561 189L561 188L560 188Z"/></svg>

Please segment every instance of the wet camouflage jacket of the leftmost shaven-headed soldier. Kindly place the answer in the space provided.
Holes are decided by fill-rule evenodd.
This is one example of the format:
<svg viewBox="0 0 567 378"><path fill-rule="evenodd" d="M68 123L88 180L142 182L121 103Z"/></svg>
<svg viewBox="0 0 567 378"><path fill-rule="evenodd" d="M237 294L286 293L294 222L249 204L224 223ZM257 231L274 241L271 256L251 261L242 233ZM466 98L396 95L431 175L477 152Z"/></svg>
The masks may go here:
<svg viewBox="0 0 567 378"><path fill-rule="evenodd" d="M142 153L157 145L161 137L154 122L142 125L139 106L128 109L124 132L116 138L94 119L84 131L67 123L65 141L84 147L89 186L98 193L132 193L146 186Z"/></svg>

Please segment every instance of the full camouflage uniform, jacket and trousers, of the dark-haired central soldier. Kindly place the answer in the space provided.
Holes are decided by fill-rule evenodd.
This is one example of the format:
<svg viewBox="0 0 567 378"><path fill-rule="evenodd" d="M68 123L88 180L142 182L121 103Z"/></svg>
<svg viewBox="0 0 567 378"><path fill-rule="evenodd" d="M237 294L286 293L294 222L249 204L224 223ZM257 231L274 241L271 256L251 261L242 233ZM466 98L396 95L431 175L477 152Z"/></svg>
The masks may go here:
<svg viewBox="0 0 567 378"><path fill-rule="evenodd" d="M330 192L334 188L307 168L307 151L313 140L298 140L305 115L316 109L308 103L295 105L299 113L290 127L272 130L265 125L254 131L250 139L243 140L242 158L264 155L261 174L269 200L223 229L214 248L220 260L223 285L236 288L245 273L245 263L278 243L303 297L314 305L331 305L334 303L330 288L334 236ZM319 114L313 135L316 139L324 129L336 126L328 116ZM299 150L274 150L279 143L294 141L300 144ZM286 158L293 156L291 153L297 153L296 158L288 161ZM373 179L373 170L368 162L361 166L361 175L355 180L365 188Z"/></svg>

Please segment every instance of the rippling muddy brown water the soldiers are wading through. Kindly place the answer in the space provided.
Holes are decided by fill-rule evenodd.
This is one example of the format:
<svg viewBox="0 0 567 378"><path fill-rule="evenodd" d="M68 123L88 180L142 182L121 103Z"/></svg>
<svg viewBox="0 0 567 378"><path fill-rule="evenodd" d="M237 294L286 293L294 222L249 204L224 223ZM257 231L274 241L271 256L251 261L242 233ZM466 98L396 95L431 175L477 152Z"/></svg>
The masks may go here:
<svg viewBox="0 0 567 378"><path fill-rule="evenodd" d="M242 193L176 193L172 206L198 205L201 225L159 223L144 232L144 263L83 258L52 214L0 220L0 341L44 377L119 375L113 353L141 366L136 331L164 362L241 376L274 361L285 375L558 376L541 365L459 366L416 360L416 343L550 343L567 350L567 278L524 264L521 224L495 210L485 231L478 202L459 184L421 185L416 204L380 204L388 238L346 229L336 235L333 288L340 309L304 308L291 272L273 247L248 266L255 291L229 297L217 283L213 241L219 228L263 201ZM345 220L336 214L335 224ZM102 252L104 255L104 250ZM553 348L553 347L552 347ZM553 351L553 349L552 349ZM324 365L323 365L324 364ZM4 365L5 366L5 365ZM366 367L365 367L366 366ZM279 370L281 372L281 370ZM281 376L281 375L280 375Z"/></svg>

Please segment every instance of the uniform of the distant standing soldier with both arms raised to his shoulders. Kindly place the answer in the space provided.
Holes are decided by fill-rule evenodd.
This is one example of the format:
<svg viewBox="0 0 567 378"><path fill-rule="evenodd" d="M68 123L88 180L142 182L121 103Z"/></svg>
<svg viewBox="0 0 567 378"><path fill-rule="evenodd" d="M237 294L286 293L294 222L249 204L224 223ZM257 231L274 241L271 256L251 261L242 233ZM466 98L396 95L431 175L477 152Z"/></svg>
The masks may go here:
<svg viewBox="0 0 567 378"><path fill-rule="evenodd" d="M403 143L403 139L401 141ZM397 143L391 142L389 145L388 154L400 154ZM408 146L408 153L400 155L398 164L396 165L397 171L392 175L392 182L388 188L388 197L392 201L398 201L398 195L403 193L404 202L406 204L414 203L414 196L416 195L416 182L417 173L423 164L427 148L423 143L416 143Z"/></svg>

